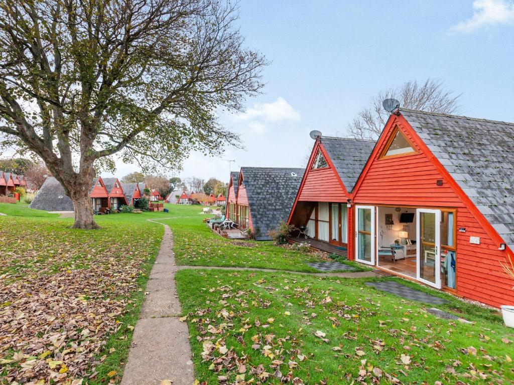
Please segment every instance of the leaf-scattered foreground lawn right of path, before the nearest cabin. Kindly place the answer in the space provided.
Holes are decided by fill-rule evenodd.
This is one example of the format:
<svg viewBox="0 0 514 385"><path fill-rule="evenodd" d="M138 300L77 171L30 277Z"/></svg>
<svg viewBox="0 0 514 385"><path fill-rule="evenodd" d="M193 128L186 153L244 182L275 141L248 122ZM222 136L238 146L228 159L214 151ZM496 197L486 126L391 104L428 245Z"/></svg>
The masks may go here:
<svg viewBox="0 0 514 385"><path fill-rule="evenodd" d="M364 280L220 270L176 279L200 383L514 380L514 334L497 312L440 292L431 291L448 300L441 309L473 323L436 318L424 310L431 305Z"/></svg>

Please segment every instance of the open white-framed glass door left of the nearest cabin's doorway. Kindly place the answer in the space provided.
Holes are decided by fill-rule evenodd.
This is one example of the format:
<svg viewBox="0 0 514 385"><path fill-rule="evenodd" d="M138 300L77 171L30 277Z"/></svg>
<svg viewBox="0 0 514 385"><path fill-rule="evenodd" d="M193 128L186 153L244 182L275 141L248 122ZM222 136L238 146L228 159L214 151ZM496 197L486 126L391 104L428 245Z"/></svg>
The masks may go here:
<svg viewBox="0 0 514 385"><path fill-rule="evenodd" d="M355 259L375 264L375 207L355 206Z"/></svg>

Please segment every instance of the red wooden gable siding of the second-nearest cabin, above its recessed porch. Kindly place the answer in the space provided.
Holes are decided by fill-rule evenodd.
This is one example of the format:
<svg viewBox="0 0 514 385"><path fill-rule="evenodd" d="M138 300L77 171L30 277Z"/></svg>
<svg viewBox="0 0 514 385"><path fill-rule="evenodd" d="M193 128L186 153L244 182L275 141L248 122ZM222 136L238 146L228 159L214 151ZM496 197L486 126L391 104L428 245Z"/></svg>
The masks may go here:
<svg viewBox="0 0 514 385"><path fill-rule="evenodd" d="M312 163L318 148L328 163L327 168L312 169ZM313 152L310 155L307 172L303 178L302 184L299 189L298 201L313 201L313 202L346 202L348 194L344 187L337 171L328 157L323 144L318 143L314 146Z"/></svg>

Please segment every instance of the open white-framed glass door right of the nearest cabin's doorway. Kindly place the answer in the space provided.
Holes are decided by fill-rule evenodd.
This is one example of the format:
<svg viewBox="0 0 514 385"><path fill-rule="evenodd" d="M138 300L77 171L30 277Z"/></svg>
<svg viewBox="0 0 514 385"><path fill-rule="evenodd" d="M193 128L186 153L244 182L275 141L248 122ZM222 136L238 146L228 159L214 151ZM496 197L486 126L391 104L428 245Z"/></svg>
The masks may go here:
<svg viewBox="0 0 514 385"><path fill-rule="evenodd" d="M441 211L428 208L418 208L416 210L416 222L416 277L421 282L424 282L430 286L441 288Z"/></svg>

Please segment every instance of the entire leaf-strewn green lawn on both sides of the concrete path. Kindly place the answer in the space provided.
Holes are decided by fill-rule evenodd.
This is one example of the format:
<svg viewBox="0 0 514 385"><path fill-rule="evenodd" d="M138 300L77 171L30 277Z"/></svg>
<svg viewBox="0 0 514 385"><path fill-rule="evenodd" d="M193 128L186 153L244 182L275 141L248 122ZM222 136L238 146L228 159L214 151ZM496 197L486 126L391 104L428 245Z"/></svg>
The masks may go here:
<svg viewBox="0 0 514 385"><path fill-rule="evenodd" d="M305 262L320 257L227 240L203 223L200 206L166 207L169 213L99 216L101 229L75 230L71 218L0 204L7 214L0 216L0 324L9 325L0 328L0 383L119 382L160 223L173 230L177 264L291 271L177 273L199 381L514 381L514 333L497 311L398 278L295 274L312 271ZM432 305L364 285L379 279L443 297L439 309L472 323L435 318L426 312Z"/></svg>

